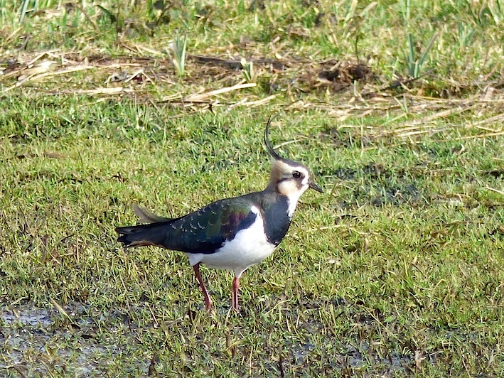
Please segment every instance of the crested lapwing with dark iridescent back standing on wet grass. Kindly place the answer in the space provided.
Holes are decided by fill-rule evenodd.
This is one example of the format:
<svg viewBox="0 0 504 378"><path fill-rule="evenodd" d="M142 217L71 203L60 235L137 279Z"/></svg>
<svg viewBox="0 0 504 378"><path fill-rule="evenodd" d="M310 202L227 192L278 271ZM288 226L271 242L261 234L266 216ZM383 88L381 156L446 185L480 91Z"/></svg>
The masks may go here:
<svg viewBox="0 0 504 378"><path fill-rule="evenodd" d="M272 156L269 183L262 191L225 198L182 217L159 217L134 205L144 225L117 227L125 247L153 245L186 254L203 291L205 309L214 305L200 274L200 265L234 271L232 308L238 312L240 277L269 257L284 239L301 195L309 188L323 193L302 163L282 158L269 141L272 117L264 130L264 145Z"/></svg>

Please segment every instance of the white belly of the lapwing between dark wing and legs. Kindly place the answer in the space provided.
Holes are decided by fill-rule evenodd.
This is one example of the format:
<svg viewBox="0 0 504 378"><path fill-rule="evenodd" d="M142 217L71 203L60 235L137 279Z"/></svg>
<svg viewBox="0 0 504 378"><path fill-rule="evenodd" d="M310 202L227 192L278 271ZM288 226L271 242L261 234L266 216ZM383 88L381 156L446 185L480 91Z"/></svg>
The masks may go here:
<svg viewBox="0 0 504 378"><path fill-rule="evenodd" d="M232 270L235 276L240 277L248 267L269 257L275 246L267 241L264 222L259 212L256 214L257 218L251 227L242 229L234 239L213 254L186 254L190 264L201 263L209 268Z"/></svg>

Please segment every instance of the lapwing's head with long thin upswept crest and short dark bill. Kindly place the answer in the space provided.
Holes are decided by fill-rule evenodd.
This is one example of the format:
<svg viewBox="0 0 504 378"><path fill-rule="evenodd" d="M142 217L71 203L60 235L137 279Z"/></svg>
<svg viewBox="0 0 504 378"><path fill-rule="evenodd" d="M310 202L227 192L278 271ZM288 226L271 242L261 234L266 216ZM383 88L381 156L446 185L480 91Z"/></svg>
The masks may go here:
<svg viewBox="0 0 504 378"><path fill-rule="evenodd" d="M271 121L272 117L269 117L266 130L264 131L264 144L273 158L268 188L277 191L281 195L286 195L295 202L299 200L301 194L308 188L323 193L322 188L311 180L311 173L308 167L296 161L282 158L277 151L274 151L269 141L269 126L271 126Z"/></svg>

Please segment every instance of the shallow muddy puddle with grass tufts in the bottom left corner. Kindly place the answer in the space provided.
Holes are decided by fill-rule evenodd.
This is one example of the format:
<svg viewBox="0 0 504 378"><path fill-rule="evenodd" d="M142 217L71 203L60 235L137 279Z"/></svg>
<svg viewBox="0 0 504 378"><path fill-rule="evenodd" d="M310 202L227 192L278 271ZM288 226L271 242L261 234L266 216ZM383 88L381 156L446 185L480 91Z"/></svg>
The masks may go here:
<svg viewBox="0 0 504 378"><path fill-rule="evenodd" d="M55 308L1 306L0 376L103 377L110 371L110 364L116 364L118 369L121 365L122 371L125 364L130 364L129 370L138 373L134 375L145 375L147 358L116 358L128 355L129 347L136 347L134 343L127 347L112 338L98 340L91 327L97 320L82 318L82 313L88 313L84 306L74 306L68 313L71 318L76 315L78 323L70 324Z"/></svg>

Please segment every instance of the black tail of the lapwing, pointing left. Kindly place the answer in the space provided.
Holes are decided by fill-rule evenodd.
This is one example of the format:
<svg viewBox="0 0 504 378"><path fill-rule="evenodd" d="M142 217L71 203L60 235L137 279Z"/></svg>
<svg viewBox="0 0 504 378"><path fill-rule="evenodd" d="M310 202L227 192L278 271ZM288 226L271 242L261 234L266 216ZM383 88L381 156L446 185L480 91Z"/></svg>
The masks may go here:
<svg viewBox="0 0 504 378"><path fill-rule="evenodd" d="M119 234L117 242L124 244L124 247L162 246L168 236L166 226L169 223L157 222L149 225L117 227L115 229Z"/></svg>

